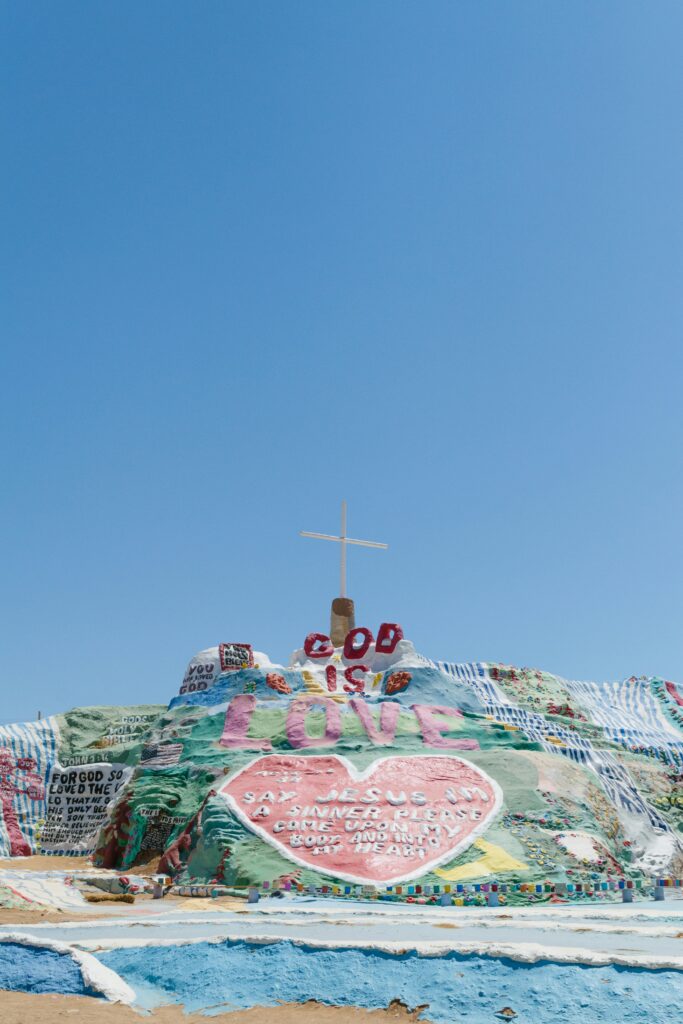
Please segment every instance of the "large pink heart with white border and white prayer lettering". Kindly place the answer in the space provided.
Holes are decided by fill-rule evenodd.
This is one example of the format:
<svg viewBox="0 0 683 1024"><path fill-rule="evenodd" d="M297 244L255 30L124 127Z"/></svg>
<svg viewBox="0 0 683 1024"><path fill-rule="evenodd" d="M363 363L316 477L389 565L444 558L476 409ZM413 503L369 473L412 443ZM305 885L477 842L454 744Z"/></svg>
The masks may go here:
<svg viewBox="0 0 683 1024"><path fill-rule="evenodd" d="M252 831L297 864L382 885L453 860L503 800L480 768L449 755L379 758L357 771L337 755L270 754L220 793Z"/></svg>

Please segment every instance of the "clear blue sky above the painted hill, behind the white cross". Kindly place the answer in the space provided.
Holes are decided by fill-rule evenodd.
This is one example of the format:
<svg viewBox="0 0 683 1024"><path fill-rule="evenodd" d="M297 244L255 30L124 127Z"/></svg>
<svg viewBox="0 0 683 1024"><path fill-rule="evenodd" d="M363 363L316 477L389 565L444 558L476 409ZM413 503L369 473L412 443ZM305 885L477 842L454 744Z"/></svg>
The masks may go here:
<svg viewBox="0 0 683 1024"><path fill-rule="evenodd" d="M683 679L683 5L0 6L0 720L356 620Z"/></svg>

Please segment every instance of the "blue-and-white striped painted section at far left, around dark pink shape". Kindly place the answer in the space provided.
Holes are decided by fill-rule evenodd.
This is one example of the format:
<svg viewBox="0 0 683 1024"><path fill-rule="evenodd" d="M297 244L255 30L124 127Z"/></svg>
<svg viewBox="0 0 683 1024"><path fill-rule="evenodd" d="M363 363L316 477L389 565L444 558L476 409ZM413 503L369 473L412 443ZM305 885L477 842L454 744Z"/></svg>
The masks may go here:
<svg viewBox="0 0 683 1024"><path fill-rule="evenodd" d="M39 722L0 726L0 749L9 749L12 759L32 758L36 763L36 773L42 778L45 787L50 769L57 760L58 743L59 729L57 720L53 716L42 718ZM10 782L13 782L18 791L13 798L13 807L23 834L35 850L38 821L45 816L45 799L32 800L20 792L25 788L22 782L23 775L24 772L16 770L10 775ZM0 816L1 814L0 811ZM2 821L0 821L0 856L9 856L9 839Z"/></svg>

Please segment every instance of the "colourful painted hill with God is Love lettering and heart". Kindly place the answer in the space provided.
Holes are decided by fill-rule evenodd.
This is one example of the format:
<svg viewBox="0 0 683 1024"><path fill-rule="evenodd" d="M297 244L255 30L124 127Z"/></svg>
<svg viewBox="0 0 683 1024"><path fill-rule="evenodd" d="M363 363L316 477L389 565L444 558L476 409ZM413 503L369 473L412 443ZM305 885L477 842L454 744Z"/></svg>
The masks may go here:
<svg viewBox="0 0 683 1024"><path fill-rule="evenodd" d="M0 854L247 885L682 873L683 695L434 663L382 627L202 651L168 708L0 728Z"/></svg>

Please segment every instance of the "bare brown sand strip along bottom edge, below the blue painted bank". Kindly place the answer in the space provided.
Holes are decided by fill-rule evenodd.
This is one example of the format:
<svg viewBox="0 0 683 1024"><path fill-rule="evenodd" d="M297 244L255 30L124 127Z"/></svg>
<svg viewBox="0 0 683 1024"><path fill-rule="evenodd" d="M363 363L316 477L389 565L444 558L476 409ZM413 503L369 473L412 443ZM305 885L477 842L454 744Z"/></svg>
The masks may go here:
<svg viewBox="0 0 683 1024"><path fill-rule="evenodd" d="M354 1007L325 1007L319 1002L286 1004L282 1007L253 1007L217 1017L187 1016L181 1007L161 1007L142 1017L129 1007L112 1005L81 995L29 995L0 991L2 1024L409 1024L419 1011L392 1004L387 1010L357 1010ZM428 1021L421 1017L421 1024Z"/></svg>

